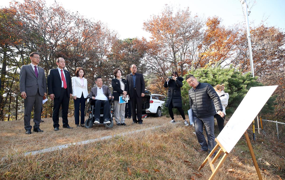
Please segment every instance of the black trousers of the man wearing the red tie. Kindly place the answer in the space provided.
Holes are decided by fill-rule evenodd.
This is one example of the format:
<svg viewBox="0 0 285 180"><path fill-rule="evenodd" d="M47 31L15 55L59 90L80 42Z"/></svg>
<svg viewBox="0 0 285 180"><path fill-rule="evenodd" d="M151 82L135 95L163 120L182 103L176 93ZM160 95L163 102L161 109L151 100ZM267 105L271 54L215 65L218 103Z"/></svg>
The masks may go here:
<svg viewBox="0 0 285 180"><path fill-rule="evenodd" d="M69 126L68 125L68 106L69 106L69 99L67 95L67 89L61 89L59 98L54 98L54 107L52 111L52 121L54 122L54 128L59 127L58 121L58 113L61 106L62 109L62 127Z"/></svg>

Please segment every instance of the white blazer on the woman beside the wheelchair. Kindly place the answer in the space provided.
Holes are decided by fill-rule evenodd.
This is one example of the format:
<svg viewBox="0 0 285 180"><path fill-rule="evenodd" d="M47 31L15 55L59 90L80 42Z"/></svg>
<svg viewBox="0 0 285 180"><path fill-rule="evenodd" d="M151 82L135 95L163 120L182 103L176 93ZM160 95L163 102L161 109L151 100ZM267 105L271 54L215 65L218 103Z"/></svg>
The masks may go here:
<svg viewBox="0 0 285 180"><path fill-rule="evenodd" d="M83 93L84 98L87 98L88 96L88 90L87 90L87 79L83 78L84 85L82 87L81 85L81 79L80 77L72 77L72 96L76 96L76 98L81 98L81 95Z"/></svg>

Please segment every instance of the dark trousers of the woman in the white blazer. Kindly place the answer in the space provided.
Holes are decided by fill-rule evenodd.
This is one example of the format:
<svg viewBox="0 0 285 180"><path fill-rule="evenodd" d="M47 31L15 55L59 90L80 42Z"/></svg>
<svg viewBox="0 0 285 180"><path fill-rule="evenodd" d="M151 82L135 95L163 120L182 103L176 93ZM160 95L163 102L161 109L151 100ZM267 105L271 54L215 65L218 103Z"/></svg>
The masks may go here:
<svg viewBox="0 0 285 180"><path fill-rule="evenodd" d="M80 98L74 99L73 102L74 102L75 124L76 125L79 124L79 109L80 109L80 124L84 124L86 98L84 98L83 93L81 94Z"/></svg>

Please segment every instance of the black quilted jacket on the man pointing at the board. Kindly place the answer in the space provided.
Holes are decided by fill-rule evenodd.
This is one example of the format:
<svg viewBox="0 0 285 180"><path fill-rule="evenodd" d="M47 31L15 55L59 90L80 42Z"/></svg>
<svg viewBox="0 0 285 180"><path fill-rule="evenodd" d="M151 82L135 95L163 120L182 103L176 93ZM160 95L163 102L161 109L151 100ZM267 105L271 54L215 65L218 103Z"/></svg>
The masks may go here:
<svg viewBox="0 0 285 180"><path fill-rule="evenodd" d="M221 100L211 84L201 83L188 92L189 104L195 117L209 117L223 111ZM216 109L215 109L216 107Z"/></svg>

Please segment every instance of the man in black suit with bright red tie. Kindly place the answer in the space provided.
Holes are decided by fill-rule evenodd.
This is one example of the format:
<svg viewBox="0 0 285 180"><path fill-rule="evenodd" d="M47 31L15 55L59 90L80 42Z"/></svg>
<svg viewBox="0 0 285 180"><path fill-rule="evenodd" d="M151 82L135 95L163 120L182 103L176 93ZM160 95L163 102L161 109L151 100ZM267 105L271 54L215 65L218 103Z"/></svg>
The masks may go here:
<svg viewBox="0 0 285 180"><path fill-rule="evenodd" d="M72 84L70 73L64 70L65 60L62 57L56 59L58 65L55 69L50 69L48 72L48 94L50 99L54 100L52 121L54 122L54 131L59 130L59 109L62 108L62 127L72 129L68 125L68 105L69 99L72 96Z"/></svg>

